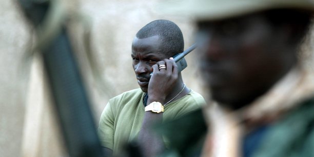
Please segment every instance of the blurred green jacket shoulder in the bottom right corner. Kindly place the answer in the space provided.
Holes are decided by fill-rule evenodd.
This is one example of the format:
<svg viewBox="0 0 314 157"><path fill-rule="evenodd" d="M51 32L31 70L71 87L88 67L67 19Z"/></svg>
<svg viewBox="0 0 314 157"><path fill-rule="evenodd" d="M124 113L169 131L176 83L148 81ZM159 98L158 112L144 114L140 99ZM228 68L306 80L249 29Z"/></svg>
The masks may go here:
<svg viewBox="0 0 314 157"><path fill-rule="evenodd" d="M271 125L253 156L314 156L314 100L303 103Z"/></svg>

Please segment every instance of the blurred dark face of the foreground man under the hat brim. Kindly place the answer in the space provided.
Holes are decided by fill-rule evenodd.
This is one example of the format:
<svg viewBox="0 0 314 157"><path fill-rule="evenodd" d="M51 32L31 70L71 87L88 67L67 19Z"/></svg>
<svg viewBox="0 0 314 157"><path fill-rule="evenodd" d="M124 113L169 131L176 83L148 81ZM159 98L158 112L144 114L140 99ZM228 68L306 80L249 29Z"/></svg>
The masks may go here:
<svg viewBox="0 0 314 157"><path fill-rule="evenodd" d="M243 107L279 79L287 30L270 25L262 14L198 26L200 69L215 101Z"/></svg>

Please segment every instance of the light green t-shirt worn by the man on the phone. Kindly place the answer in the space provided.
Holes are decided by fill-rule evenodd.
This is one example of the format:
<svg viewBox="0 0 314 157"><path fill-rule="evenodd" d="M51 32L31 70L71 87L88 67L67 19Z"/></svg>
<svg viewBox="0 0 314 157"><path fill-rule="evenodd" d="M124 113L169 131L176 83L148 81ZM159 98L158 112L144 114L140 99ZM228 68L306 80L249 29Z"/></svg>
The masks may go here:
<svg viewBox="0 0 314 157"><path fill-rule="evenodd" d="M98 133L104 147L119 152L123 145L138 136L143 123L144 92L138 88L124 92L109 100L99 122ZM164 108L163 121L176 119L205 105L205 100L191 90L181 99Z"/></svg>

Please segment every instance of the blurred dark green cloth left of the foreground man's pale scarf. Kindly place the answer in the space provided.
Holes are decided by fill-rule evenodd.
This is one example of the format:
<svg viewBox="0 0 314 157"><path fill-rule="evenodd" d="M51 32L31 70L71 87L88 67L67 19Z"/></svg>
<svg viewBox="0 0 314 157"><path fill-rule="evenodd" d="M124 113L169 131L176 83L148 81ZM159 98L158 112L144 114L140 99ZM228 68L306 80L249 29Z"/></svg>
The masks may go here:
<svg viewBox="0 0 314 157"><path fill-rule="evenodd" d="M169 142L169 149L160 156L200 156L207 126L202 110L198 109L179 119L164 122L156 131Z"/></svg>

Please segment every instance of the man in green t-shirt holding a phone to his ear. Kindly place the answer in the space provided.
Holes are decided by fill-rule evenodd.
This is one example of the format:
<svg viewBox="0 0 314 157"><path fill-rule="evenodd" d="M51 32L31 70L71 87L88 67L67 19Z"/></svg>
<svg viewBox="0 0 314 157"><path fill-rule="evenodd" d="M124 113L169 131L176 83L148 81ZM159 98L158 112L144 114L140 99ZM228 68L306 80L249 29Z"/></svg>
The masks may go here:
<svg viewBox="0 0 314 157"><path fill-rule="evenodd" d="M109 100L99 122L105 151L118 155L127 142L139 141L143 156L155 156L165 148L152 125L180 117L205 104L188 88L172 56L183 52L180 28L167 20L144 26L132 42L131 57L140 88Z"/></svg>

